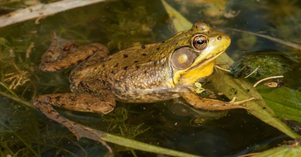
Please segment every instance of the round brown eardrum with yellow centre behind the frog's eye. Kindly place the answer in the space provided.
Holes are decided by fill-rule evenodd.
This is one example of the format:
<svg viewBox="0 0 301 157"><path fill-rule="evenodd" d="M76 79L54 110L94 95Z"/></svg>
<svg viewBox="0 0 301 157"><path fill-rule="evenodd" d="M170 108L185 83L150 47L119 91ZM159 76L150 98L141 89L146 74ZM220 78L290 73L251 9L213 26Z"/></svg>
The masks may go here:
<svg viewBox="0 0 301 157"><path fill-rule="evenodd" d="M194 53L188 47L179 48L171 56L171 63L176 69L186 69L194 61Z"/></svg>

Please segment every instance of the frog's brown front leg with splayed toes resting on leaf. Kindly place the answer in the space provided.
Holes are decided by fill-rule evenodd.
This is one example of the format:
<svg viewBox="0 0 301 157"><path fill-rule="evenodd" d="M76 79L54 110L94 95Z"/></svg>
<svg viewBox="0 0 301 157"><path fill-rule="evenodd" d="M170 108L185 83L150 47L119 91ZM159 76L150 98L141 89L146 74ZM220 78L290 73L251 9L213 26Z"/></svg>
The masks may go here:
<svg viewBox="0 0 301 157"><path fill-rule="evenodd" d="M252 110L250 108L240 106L240 105L250 102L255 99L254 97L252 97L252 98L249 98L246 100L235 102L236 97L234 97L230 102L224 102L224 101L199 97L192 89L185 90L185 92L181 93L181 96L191 106L194 106L197 109L203 109L203 110L225 110L225 109Z"/></svg>

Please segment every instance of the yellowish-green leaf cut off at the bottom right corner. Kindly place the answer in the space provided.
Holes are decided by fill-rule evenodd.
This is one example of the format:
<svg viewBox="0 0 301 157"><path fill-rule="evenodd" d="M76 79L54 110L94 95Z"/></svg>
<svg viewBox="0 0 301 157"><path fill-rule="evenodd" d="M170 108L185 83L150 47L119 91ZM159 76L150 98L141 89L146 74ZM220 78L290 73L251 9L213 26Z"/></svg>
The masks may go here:
<svg viewBox="0 0 301 157"><path fill-rule="evenodd" d="M268 156L277 156L277 157L295 157L300 156L301 146L280 146L273 149L268 149L264 152L261 152L258 155L253 155L252 157L268 157Z"/></svg>

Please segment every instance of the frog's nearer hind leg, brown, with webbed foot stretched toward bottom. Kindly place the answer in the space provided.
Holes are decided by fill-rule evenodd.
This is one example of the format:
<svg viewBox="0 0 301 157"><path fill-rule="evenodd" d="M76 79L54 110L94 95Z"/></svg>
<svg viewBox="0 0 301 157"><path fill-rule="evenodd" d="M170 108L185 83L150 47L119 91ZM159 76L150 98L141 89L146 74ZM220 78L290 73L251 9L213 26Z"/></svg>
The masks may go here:
<svg viewBox="0 0 301 157"><path fill-rule="evenodd" d="M106 142L101 140L100 137L93 133L93 131L90 131L83 125L79 125L64 118L51 106L58 106L74 111L97 112L106 114L114 109L115 100L113 94L111 94L109 91L107 91L107 93L104 93L103 96L105 97L96 97L81 93L46 94L36 97L33 100L33 105L37 109L39 109L47 118L67 127L73 134L76 135L78 140L81 137L87 137L93 140L97 140L98 142L106 146L110 150L110 152L113 152L110 146L108 146Z"/></svg>

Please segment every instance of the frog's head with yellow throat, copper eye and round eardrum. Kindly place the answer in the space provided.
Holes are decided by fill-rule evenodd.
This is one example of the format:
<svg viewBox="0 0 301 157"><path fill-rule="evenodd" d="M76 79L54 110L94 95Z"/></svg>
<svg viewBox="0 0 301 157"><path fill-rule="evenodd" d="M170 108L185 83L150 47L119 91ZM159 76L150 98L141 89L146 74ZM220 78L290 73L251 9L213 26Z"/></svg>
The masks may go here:
<svg viewBox="0 0 301 157"><path fill-rule="evenodd" d="M231 39L198 21L190 30L179 32L167 42L172 48L169 61L173 82L175 85L185 85L209 76L216 58L228 48Z"/></svg>

